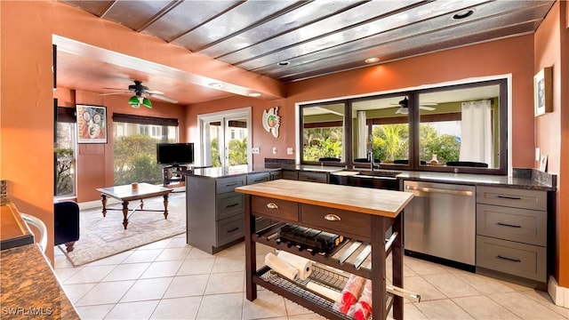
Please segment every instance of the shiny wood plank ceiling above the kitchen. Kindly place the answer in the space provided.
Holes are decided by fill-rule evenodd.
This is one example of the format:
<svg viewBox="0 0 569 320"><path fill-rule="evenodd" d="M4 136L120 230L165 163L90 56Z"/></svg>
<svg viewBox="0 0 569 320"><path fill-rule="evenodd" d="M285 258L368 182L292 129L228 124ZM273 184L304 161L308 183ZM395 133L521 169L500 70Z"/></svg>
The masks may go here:
<svg viewBox="0 0 569 320"><path fill-rule="evenodd" d="M531 34L554 4L511 0L60 2L284 83L363 68L369 58L378 58L374 63L381 64Z"/></svg>

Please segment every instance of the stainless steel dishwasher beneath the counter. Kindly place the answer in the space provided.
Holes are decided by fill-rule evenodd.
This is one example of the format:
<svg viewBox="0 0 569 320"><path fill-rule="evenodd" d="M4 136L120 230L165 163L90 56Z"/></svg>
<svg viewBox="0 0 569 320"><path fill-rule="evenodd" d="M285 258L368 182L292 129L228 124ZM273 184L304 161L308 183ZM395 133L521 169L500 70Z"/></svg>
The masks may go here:
<svg viewBox="0 0 569 320"><path fill-rule="evenodd" d="M405 252L474 266L476 188L405 181L404 189L414 195L404 213Z"/></svg>

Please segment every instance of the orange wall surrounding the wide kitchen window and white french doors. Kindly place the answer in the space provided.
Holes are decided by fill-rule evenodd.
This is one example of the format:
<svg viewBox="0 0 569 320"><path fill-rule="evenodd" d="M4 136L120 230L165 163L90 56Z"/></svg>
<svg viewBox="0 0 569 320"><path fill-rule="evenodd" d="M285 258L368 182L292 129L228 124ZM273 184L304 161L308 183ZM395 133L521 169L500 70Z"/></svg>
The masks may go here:
<svg viewBox="0 0 569 320"><path fill-rule="evenodd" d="M511 52L517 52L512 55ZM294 105L309 100L325 100L350 95L371 94L460 79L512 74L512 164L532 168L533 162L533 36L518 36L486 44L427 54L377 67L360 68L331 76L322 76L288 84L288 98L270 103L252 98L227 98L190 106L187 114L189 136L198 137L196 115L223 109L253 106L253 147L260 155L253 157L261 165L265 157L286 156L294 147ZM281 130L278 139L262 129L263 108L280 106ZM190 140L192 140L190 139ZM193 140L193 142L197 142ZM277 148L272 155L271 148ZM296 153L296 150L295 150Z"/></svg>

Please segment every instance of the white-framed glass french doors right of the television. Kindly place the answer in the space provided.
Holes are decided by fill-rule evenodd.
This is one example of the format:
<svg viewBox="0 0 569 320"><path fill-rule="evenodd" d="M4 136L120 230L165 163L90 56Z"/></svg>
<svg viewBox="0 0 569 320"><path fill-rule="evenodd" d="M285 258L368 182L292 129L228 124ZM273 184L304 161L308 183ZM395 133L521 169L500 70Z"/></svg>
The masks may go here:
<svg viewBox="0 0 569 320"><path fill-rule="evenodd" d="M252 169L251 108L197 116L200 141L199 166Z"/></svg>

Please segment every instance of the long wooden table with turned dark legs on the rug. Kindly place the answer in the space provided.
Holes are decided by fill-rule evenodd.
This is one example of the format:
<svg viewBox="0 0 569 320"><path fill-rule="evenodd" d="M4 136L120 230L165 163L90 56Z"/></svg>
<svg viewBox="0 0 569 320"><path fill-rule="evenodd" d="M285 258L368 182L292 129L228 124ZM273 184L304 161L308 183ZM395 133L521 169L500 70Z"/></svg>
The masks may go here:
<svg viewBox="0 0 569 320"><path fill-rule="evenodd" d="M132 185L97 188L100 192L101 201L103 203L103 217L107 216L107 210L122 210L123 211L123 226L126 229L128 226L128 218L135 211L148 211L148 212L162 212L162 210L144 209L143 199L148 199L153 196L164 196L164 219L168 219L168 194L172 192L171 188L162 188L159 186L151 185L149 183L139 183L137 189L133 189ZM107 208L107 196L120 200L123 203L123 209ZM140 204L132 209L128 208L129 201L140 200ZM129 214L130 211L130 214Z"/></svg>

